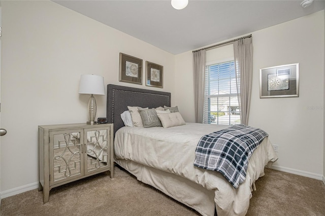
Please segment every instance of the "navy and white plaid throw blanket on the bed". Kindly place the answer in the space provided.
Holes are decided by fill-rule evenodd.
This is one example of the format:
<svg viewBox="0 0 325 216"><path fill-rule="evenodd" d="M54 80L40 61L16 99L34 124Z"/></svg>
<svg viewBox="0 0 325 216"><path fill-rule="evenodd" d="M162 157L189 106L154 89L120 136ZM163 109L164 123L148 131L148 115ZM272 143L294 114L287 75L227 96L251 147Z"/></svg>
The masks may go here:
<svg viewBox="0 0 325 216"><path fill-rule="evenodd" d="M194 166L218 171L238 188L245 180L249 158L266 136L264 130L243 124L212 132L200 139Z"/></svg>

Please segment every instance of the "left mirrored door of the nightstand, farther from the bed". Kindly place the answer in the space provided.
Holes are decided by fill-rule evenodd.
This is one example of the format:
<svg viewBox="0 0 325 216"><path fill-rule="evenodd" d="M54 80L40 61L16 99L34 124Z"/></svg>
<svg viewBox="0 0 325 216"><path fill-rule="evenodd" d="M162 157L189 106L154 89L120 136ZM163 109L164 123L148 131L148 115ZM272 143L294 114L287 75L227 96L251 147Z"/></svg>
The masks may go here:
<svg viewBox="0 0 325 216"><path fill-rule="evenodd" d="M52 130L49 134L50 185L83 176L83 131Z"/></svg>

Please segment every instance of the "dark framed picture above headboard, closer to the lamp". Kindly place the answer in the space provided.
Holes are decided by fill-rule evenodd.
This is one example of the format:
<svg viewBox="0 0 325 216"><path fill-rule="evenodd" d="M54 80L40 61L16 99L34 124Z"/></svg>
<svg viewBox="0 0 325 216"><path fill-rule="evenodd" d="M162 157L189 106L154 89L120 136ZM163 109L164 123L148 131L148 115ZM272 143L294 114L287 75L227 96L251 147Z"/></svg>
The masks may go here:
<svg viewBox="0 0 325 216"><path fill-rule="evenodd" d="M142 85L142 59L120 53L119 81Z"/></svg>

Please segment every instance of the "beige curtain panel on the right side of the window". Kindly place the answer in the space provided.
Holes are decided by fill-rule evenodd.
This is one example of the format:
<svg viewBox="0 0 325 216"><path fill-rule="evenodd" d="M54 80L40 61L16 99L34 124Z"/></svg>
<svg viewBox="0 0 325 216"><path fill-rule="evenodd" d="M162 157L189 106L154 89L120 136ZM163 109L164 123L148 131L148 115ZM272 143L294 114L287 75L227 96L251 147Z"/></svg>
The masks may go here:
<svg viewBox="0 0 325 216"><path fill-rule="evenodd" d="M253 75L253 45L252 38L244 38L234 42L236 83L238 102L240 106L242 124L248 124L250 97Z"/></svg>

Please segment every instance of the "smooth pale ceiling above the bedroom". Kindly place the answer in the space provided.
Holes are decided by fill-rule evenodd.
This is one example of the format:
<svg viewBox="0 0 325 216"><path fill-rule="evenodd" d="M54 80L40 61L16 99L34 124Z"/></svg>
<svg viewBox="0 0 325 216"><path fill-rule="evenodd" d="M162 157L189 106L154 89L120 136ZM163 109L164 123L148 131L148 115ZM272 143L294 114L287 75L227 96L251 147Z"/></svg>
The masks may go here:
<svg viewBox="0 0 325 216"><path fill-rule="evenodd" d="M170 0L53 1L172 54L218 43L325 8L325 0L302 8L302 0L194 1L176 10Z"/></svg>

